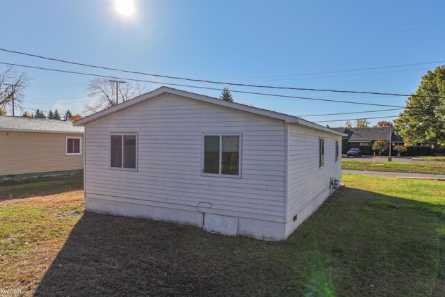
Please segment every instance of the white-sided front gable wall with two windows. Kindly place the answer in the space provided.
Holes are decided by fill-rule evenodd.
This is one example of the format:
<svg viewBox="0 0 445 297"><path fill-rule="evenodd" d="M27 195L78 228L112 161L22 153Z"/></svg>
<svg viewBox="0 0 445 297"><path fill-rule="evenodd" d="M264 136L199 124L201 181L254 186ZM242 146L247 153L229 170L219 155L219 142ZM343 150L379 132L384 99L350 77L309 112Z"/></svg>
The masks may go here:
<svg viewBox="0 0 445 297"><path fill-rule="evenodd" d="M86 125L86 210L200 227L207 212L238 218L239 235L284 239L285 126L174 95L92 122ZM138 171L109 168L112 132L138 133ZM202 133L213 132L242 134L241 178L201 175ZM197 211L200 202L211 208Z"/></svg>

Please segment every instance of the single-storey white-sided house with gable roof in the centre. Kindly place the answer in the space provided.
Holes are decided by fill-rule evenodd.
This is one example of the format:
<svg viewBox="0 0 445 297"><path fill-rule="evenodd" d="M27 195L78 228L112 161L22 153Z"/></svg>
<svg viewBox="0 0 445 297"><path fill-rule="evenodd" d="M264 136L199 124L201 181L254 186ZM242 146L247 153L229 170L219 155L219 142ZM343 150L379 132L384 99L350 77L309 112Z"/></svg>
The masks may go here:
<svg viewBox="0 0 445 297"><path fill-rule="evenodd" d="M161 87L85 126L86 210L286 239L341 177L344 135L291 115Z"/></svg>

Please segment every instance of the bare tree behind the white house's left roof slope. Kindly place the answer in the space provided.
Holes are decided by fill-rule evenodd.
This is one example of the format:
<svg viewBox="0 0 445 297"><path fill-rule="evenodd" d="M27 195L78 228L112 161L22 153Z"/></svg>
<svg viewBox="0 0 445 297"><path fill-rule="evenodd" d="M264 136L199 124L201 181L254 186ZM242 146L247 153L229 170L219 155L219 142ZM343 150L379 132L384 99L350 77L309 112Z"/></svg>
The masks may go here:
<svg viewBox="0 0 445 297"><path fill-rule="evenodd" d="M88 90L90 91L88 97L94 98L96 101L84 106L84 113L97 113L97 111L102 111L102 109L117 105L117 91L119 92L119 102L126 102L146 92L145 86L138 82L120 83L119 90L117 90L116 83L109 81L105 77L95 77L91 79Z"/></svg>

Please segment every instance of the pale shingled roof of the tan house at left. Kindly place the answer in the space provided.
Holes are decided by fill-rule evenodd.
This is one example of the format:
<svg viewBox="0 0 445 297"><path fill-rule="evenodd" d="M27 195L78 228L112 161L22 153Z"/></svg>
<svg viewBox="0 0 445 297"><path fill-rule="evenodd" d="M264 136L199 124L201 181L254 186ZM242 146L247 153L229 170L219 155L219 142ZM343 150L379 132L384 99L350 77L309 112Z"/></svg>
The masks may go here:
<svg viewBox="0 0 445 297"><path fill-rule="evenodd" d="M0 131L83 134L84 128L74 127L69 121L0 115Z"/></svg>

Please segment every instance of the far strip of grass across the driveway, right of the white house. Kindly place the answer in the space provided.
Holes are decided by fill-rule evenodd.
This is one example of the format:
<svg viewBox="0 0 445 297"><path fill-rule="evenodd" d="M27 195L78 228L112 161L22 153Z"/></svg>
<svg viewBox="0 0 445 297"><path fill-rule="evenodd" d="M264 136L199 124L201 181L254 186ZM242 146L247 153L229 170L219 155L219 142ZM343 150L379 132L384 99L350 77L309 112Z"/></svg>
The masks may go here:
<svg viewBox="0 0 445 297"><path fill-rule="evenodd" d="M392 171L392 172L414 172L445 175L445 163L408 163L408 162L387 162L375 161L372 159L342 159L342 169L351 170L372 170L372 171Z"/></svg>

